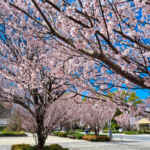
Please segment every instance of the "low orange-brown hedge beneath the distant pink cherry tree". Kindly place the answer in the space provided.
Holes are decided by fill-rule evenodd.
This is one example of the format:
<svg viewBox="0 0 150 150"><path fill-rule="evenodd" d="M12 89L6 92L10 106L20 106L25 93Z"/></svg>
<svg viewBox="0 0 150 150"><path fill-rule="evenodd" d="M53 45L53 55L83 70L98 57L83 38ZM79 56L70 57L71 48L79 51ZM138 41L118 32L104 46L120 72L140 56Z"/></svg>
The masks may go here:
<svg viewBox="0 0 150 150"><path fill-rule="evenodd" d="M83 140L87 141L110 141L110 138L107 135L101 135L101 136L96 136L96 135L84 135L82 137Z"/></svg>

